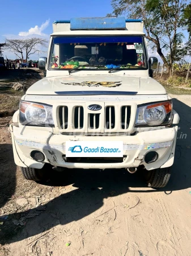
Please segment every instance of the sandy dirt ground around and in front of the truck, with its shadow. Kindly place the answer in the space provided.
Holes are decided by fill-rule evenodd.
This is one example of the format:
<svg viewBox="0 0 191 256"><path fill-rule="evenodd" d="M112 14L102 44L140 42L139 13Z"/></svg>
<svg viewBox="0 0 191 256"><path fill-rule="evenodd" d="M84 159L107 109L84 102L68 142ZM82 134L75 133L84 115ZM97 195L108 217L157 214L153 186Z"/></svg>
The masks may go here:
<svg viewBox="0 0 191 256"><path fill-rule="evenodd" d="M163 189L122 169L24 180L14 164L11 117L0 118L0 255L190 256L191 96L171 96L181 121Z"/></svg>

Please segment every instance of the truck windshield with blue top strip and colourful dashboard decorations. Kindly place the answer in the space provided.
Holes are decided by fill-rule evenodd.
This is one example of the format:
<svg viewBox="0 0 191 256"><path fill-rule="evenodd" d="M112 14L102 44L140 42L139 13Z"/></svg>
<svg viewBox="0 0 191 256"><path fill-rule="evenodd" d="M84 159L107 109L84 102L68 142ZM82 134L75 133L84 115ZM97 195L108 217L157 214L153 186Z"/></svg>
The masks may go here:
<svg viewBox="0 0 191 256"><path fill-rule="evenodd" d="M147 69L143 36L54 37L49 69Z"/></svg>

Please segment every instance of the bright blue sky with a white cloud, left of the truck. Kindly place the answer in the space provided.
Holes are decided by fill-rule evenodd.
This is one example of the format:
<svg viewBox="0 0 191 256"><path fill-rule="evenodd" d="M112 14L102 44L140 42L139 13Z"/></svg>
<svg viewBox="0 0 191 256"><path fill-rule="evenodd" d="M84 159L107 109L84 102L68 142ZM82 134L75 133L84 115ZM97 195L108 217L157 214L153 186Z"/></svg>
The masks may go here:
<svg viewBox="0 0 191 256"><path fill-rule="evenodd" d="M26 1L1 0L0 43L8 39L22 39L38 36L49 40L54 20L76 17L103 17L112 13L111 0L64 0L64 1ZM41 53L40 56L46 56ZM156 53L154 55L159 57ZM16 59L14 53L4 51L3 56ZM31 55L37 60L39 55ZM160 57L159 57L160 61Z"/></svg>

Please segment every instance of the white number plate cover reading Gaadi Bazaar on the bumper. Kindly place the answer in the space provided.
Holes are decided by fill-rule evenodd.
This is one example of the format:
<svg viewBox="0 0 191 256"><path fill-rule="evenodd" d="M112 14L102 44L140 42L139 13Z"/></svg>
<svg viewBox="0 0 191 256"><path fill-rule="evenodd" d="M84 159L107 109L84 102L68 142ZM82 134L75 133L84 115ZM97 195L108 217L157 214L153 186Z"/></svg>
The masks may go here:
<svg viewBox="0 0 191 256"><path fill-rule="evenodd" d="M66 157L122 157L122 141L67 141Z"/></svg>

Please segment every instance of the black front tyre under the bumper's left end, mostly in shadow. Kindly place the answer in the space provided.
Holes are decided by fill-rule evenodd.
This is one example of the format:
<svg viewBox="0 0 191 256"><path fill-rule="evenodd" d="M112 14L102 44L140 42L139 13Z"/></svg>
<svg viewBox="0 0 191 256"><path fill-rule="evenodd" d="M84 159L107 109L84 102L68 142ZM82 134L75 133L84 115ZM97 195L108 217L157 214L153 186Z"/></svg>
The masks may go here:
<svg viewBox="0 0 191 256"><path fill-rule="evenodd" d="M45 171L44 169L35 169L30 167L20 167L22 174L27 180L41 181L44 180Z"/></svg>

